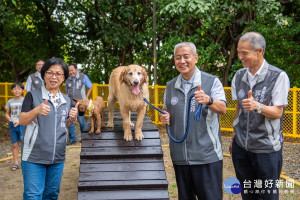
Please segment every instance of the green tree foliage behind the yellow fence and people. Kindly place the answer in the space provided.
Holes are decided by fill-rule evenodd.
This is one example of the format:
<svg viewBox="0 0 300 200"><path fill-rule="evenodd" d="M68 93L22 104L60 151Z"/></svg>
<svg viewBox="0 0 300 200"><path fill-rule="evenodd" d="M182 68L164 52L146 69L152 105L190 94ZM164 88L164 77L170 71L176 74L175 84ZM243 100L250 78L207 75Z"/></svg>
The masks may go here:
<svg viewBox="0 0 300 200"><path fill-rule="evenodd" d="M81 63L93 82L108 83L119 65L140 64L153 82L153 34L157 35L157 79L165 85L178 73L174 46L196 44L198 67L230 85L242 65L239 37L261 32L266 60L284 69L300 87L297 0L156 0L153 29L150 0L2 0L0 78L24 80L37 58L61 57Z"/></svg>

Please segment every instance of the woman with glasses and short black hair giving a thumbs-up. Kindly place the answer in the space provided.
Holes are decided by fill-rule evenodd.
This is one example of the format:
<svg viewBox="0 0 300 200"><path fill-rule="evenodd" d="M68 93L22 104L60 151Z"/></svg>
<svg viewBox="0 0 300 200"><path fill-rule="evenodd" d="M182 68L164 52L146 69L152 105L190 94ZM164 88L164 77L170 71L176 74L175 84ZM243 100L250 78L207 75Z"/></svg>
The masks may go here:
<svg viewBox="0 0 300 200"><path fill-rule="evenodd" d="M25 96L20 124L25 125L22 143L23 199L57 199L66 152L66 127L76 121L77 106L59 86L68 78L66 63L46 61L41 70L45 85Z"/></svg>

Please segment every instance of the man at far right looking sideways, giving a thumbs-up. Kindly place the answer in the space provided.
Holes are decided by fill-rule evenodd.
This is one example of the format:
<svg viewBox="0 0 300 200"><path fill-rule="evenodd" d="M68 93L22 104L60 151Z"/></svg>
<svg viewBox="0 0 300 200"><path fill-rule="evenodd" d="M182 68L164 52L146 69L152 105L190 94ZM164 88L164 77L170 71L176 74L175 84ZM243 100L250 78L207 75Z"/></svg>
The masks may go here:
<svg viewBox="0 0 300 200"><path fill-rule="evenodd" d="M238 102L229 150L244 200L279 198L282 119L290 81L283 70L264 59L265 48L261 34L245 33L237 47L244 68L232 80L232 99Z"/></svg>

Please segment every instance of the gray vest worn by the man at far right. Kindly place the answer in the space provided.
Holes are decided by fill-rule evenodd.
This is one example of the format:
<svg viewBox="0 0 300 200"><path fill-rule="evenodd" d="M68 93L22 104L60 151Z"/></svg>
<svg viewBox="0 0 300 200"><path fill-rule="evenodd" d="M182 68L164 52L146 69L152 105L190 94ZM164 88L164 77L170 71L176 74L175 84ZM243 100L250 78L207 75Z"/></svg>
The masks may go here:
<svg viewBox="0 0 300 200"><path fill-rule="evenodd" d="M255 101L271 106L272 90L281 69L267 62L258 77L257 83L252 88ZM270 119L255 111L245 111L242 100L248 98L250 85L247 69L236 72L236 94L240 105L239 116L234 121L235 141L243 149L254 153L271 153L281 149L283 141L282 119Z"/></svg>

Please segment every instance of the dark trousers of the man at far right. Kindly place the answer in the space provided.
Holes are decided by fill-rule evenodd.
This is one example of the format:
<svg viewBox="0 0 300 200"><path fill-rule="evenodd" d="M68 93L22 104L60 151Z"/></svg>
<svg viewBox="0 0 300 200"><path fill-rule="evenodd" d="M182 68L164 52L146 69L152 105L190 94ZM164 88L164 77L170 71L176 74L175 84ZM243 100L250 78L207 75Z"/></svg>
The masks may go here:
<svg viewBox="0 0 300 200"><path fill-rule="evenodd" d="M252 153L242 149L233 140L232 161L242 186L243 200L279 199L282 149L272 153Z"/></svg>

